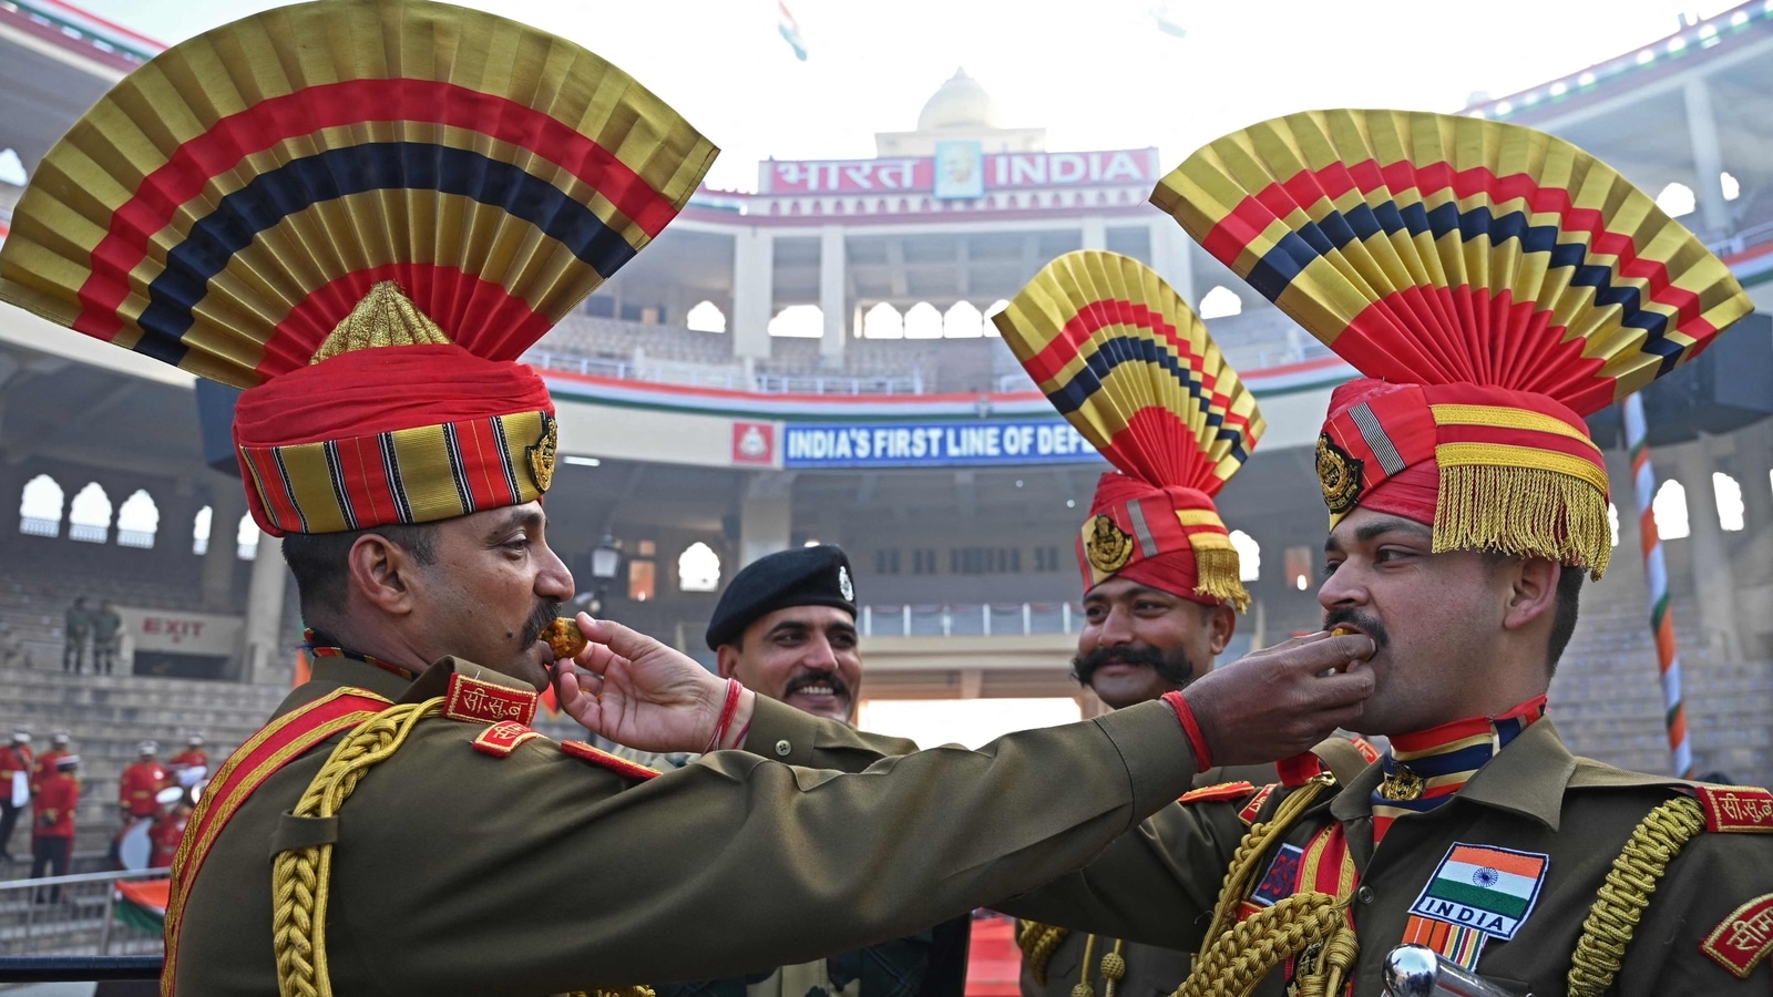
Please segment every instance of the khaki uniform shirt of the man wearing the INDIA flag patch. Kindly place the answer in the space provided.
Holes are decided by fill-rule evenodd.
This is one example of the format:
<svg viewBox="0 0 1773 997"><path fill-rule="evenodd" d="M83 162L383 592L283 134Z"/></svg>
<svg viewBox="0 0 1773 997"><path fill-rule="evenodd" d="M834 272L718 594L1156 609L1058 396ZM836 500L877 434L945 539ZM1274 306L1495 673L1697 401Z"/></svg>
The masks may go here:
<svg viewBox="0 0 1773 997"><path fill-rule="evenodd" d="M1378 765L1316 802L1285 843L1303 846L1340 821L1360 871L1351 907L1360 938L1353 992L1379 993L1385 954L1399 944L1410 908L1454 844L1498 846L1548 857L1532 910L1512 940L1488 938L1477 972L1537 997L1562 997L1583 919L1613 859L1644 816L1679 782L1574 758L1551 722L1539 720L1480 768L1450 804L1397 820L1372 846ZM1262 807L1275 813L1284 793ZM1199 949L1232 852L1243 839L1243 804L1167 807L1117 841L1089 867L996 907L1044 922L1177 949ZM1277 846L1278 850L1278 846ZM1259 866L1266 867L1264 866ZM1700 944L1734 912L1773 894L1773 837L1711 834L1691 839L1668 864L1612 993L1621 997L1755 993L1769 990L1768 963L1739 979ZM1523 986L1523 988L1525 988ZM1255 993L1285 992L1271 972Z"/></svg>

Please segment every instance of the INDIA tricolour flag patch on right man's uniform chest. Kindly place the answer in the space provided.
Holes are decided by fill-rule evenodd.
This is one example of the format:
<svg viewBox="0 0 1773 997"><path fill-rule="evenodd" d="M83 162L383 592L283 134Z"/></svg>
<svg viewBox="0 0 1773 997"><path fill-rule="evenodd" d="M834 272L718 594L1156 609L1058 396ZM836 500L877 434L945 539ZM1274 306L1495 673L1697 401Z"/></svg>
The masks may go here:
<svg viewBox="0 0 1773 997"><path fill-rule="evenodd" d="M1410 912L1507 942L1532 914L1550 862L1532 852L1454 844Z"/></svg>

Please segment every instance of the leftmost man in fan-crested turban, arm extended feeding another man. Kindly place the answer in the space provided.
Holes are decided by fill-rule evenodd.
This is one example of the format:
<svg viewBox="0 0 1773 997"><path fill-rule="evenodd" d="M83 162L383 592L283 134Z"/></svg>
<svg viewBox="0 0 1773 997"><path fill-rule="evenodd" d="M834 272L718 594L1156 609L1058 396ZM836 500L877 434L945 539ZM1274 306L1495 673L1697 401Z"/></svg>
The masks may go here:
<svg viewBox="0 0 1773 997"><path fill-rule="evenodd" d="M573 593L541 507L558 431L512 358L711 158L564 39L365 0L174 46L39 165L0 298L246 389L248 507L284 536L312 626L312 681L190 818L165 993L537 995L803 962L1074 869L1202 759L1284 756L1358 717L1372 679L1351 663L1374 644L1319 639L1163 703L846 775L796 765L908 745L583 616L598 644L562 669L537 639ZM550 671L594 733L711 754L658 773L543 738Z"/></svg>

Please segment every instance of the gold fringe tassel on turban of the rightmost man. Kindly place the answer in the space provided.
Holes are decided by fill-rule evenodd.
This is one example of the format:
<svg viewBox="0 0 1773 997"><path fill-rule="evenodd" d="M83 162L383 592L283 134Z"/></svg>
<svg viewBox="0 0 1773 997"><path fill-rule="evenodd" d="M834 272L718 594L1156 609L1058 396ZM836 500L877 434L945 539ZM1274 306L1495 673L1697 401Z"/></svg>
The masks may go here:
<svg viewBox="0 0 1773 997"><path fill-rule="evenodd" d="M1546 557L1599 582L1613 555L1606 493L1557 470L1441 463L1434 552L1443 550Z"/></svg>

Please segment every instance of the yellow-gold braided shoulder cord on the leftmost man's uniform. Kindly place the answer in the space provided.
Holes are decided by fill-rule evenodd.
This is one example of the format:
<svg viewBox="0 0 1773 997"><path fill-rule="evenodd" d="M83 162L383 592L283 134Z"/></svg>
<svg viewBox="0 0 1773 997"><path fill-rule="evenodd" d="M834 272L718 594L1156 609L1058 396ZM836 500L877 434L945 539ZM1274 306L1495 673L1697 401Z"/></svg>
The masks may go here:
<svg viewBox="0 0 1773 997"><path fill-rule="evenodd" d="M335 816L371 766L394 756L420 720L441 711L443 697L436 697L390 706L358 724L326 758L314 782L309 782L293 816ZM280 997L333 997L332 976L326 970L332 848L330 843L291 848L278 852L271 864L271 942L277 951ZM629 986L569 997L652 997L652 988Z"/></svg>

